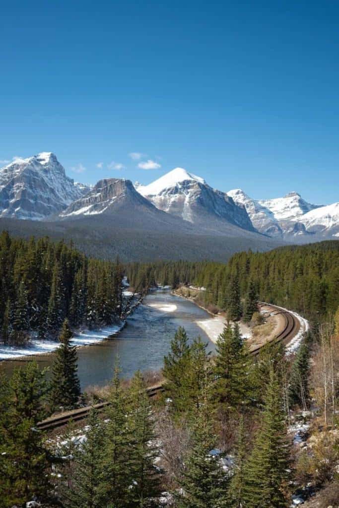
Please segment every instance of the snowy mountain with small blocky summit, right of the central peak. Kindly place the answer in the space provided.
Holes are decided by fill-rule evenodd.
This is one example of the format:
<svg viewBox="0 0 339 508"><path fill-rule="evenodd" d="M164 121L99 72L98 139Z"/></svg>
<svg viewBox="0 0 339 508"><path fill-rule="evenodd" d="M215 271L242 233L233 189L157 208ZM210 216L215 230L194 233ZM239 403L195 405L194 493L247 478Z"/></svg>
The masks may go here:
<svg viewBox="0 0 339 508"><path fill-rule="evenodd" d="M303 200L300 194L291 192L283 198L268 200L255 200L246 195L241 189L230 190L228 196L244 205L253 226L270 236L284 236L286 234L300 234L303 223L300 217L306 213L321 208L321 205L313 205ZM299 226L296 226L296 223Z"/></svg>

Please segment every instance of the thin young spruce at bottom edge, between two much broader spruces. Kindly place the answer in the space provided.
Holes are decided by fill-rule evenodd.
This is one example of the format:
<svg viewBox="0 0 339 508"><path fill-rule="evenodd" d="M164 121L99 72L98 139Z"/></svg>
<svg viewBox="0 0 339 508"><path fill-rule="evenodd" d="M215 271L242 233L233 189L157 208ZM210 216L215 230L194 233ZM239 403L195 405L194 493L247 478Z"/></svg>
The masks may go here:
<svg viewBox="0 0 339 508"><path fill-rule="evenodd" d="M247 457L247 443L245 440L244 419L241 415L238 429L238 441L234 461L233 476L228 489L228 501L230 508L242 508L244 506L244 465Z"/></svg>

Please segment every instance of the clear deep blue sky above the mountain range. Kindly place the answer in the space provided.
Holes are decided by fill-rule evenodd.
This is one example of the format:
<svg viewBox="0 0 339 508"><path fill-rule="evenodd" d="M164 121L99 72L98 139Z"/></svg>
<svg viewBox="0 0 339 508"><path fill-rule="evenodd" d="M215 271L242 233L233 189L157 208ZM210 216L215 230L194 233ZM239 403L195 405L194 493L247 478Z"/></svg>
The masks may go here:
<svg viewBox="0 0 339 508"><path fill-rule="evenodd" d="M339 201L338 22L335 0L4 3L0 160Z"/></svg>

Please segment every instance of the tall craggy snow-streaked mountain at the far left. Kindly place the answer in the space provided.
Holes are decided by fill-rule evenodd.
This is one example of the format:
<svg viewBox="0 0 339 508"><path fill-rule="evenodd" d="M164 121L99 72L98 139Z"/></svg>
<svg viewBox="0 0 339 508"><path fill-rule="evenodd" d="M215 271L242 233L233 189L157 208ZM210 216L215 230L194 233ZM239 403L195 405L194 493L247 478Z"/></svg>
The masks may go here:
<svg viewBox="0 0 339 508"><path fill-rule="evenodd" d="M0 217L42 220L87 193L75 184L51 152L16 158L0 169Z"/></svg>

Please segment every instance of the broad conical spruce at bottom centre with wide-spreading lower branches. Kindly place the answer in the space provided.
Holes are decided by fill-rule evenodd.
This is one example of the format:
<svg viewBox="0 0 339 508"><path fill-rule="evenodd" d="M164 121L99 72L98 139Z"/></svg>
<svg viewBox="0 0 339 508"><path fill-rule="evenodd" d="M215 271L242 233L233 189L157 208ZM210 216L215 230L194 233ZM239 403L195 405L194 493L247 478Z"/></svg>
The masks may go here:
<svg viewBox="0 0 339 508"><path fill-rule="evenodd" d="M182 493L175 493L178 508L227 508L228 480L215 449L213 410L210 404L210 366L205 364L205 377L195 410L193 448L178 483Z"/></svg>

